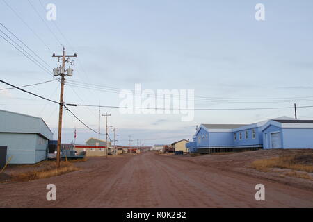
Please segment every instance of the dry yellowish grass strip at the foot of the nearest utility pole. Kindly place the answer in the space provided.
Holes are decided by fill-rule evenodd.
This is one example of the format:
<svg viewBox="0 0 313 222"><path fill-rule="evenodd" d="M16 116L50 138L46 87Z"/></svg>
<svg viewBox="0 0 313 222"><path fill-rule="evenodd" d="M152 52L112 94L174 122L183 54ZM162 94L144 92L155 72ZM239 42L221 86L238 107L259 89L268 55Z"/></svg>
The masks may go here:
<svg viewBox="0 0 313 222"><path fill-rule="evenodd" d="M49 178L51 176L59 176L64 173L77 171L79 167L74 166L71 162L61 162L59 169L56 169L56 162L46 163L47 166L43 169L28 171L25 173L18 173L11 175L10 181L22 182L38 180L42 178Z"/></svg>

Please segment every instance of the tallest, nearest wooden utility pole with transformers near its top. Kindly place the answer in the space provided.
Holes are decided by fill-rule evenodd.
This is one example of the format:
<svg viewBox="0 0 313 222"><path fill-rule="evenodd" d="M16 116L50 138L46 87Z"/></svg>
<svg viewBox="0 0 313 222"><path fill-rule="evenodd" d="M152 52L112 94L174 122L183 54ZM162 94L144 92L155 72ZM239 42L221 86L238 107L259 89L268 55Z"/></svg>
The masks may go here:
<svg viewBox="0 0 313 222"><path fill-rule="evenodd" d="M52 57L57 57L58 61L62 58L62 66L54 69L54 76L61 76L61 93L60 93L60 106L58 110L58 145L57 145L57 153L56 153L56 167L60 167L60 151L61 151L61 135L62 135L62 115L63 115L63 94L64 94L64 83L65 83L65 71L67 72L67 76L73 76L73 69L70 67L65 70L65 63L69 62L71 65L74 65L74 61L70 62L70 57L77 57L77 54L74 55L66 55L65 48L63 47L62 56L56 56L54 53ZM67 59L66 59L67 58Z"/></svg>

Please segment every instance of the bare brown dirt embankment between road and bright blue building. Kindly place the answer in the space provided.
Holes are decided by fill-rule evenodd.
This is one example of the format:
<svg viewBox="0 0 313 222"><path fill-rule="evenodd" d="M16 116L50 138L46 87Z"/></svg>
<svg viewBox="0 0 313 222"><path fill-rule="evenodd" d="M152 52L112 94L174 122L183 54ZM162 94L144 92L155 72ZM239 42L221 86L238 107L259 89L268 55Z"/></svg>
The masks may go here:
<svg viewBox="0 0 313 222"><path fill-rule="evenodd" d="M308 173L283 167L257 170L253 167L253 162L257 160L268 160L279 157L298 158L298 164L303 164L303 166L312 166L313 164L312 149L259 150L225 155L200 155L195 157L182 156L178 157L178 159L194 162L207 167L214 167L223 171L241 173L255 178L266 178L271 181L280 182L284 185L291 185L293 187L310 189L313 191L312 172Z"/></svg>

